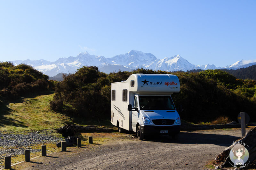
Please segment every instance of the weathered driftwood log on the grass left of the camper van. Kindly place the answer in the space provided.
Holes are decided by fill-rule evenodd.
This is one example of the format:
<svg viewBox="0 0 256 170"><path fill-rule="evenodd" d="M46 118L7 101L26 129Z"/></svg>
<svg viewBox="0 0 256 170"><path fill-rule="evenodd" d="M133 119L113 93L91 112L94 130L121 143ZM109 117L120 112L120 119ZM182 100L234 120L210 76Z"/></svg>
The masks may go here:
<svg viewBox="0 0 256 170"><path fill-rule="evenodd" d="M97 127L97 126L96 126ZM74 136L76 132L114 132L117 130L108 128L96 128L95 125L91 126L78 126L66 124L65 126L55 129L57 133L61 133L63 137Z"/></svg>

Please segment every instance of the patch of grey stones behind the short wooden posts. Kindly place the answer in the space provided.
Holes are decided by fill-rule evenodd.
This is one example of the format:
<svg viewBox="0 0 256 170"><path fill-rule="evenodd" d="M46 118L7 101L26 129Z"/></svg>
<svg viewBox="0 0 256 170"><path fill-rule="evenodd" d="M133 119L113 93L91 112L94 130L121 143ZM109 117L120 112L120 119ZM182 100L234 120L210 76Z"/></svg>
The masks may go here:
<svg viewBox="0 0 256 170"><path fill-rule="evenodd" d="M5 156L24 154L25 149L30 149L32 153L41 152L41 149L31 149L29 146L44 143L57 143L63 140L53 136L52 133L53 131L38 131L27 134L3 134L0 132L0 164L4 162Z"/></svg>

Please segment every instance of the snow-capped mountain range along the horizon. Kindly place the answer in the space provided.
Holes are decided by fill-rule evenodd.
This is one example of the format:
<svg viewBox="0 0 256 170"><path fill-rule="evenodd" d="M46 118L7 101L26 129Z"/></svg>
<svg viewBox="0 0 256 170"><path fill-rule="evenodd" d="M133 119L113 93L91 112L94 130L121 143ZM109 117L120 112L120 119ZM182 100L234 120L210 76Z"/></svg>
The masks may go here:
<svg viewBox="0 0 256 170"><path fill-rule="evenodd" d="M151 53L143 53L141 51L131 50L126 54L116 55L111 58L104 56L90 55L88 52L78 54L76 57L70 56L68 58L59 58L55 62L49 62L46 60L15 60L12 61L14 65L25 63L33 66L36 70L43 72L48 76L55 76L58 73L74 73L77 69L83 66L97 66L100 71L110 73L113 71L131 71L137 68L163 70L163 71L178 71L178 70L193 70L193 69L221 69L215 65L195 65L189 63L186 59L180 55L172 57L165 57L164 59L158 59ZM226 69L238 69L243 67L249 67L256 63L246 63L245 60L238 61L230 66L226 66Z"/></svg>

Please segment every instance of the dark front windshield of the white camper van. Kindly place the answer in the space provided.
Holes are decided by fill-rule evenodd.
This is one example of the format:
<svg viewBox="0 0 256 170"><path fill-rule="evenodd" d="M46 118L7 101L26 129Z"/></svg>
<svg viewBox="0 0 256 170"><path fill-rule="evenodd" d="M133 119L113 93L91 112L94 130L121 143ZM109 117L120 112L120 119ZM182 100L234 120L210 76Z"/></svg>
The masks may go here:
<svg viewBox="0 0 256 170"><path fill-rule="evenodd" d="M170 96L139 96L140 110L175 110Z"/></svg>

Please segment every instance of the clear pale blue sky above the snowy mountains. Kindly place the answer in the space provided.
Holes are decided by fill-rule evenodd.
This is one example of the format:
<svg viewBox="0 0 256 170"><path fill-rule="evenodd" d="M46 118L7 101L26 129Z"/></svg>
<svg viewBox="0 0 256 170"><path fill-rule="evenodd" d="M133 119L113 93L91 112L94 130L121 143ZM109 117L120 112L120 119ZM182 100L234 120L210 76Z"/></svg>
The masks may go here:
<svg viewBox="0 0 256 170"><path fill-rule="evenodd" d="M193 64L256 59L256 1L0 0L0 61L135 49Z"/></svg>

